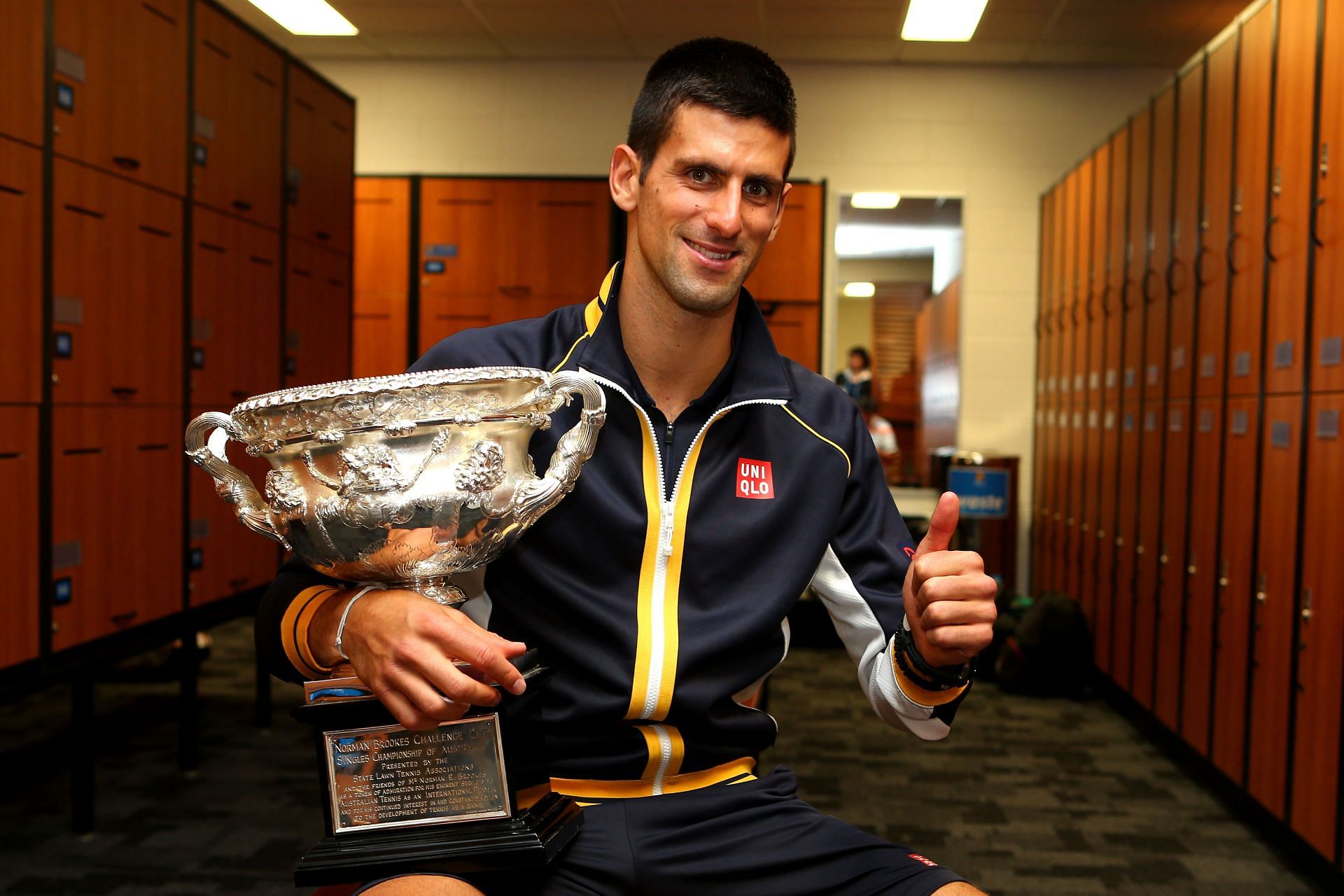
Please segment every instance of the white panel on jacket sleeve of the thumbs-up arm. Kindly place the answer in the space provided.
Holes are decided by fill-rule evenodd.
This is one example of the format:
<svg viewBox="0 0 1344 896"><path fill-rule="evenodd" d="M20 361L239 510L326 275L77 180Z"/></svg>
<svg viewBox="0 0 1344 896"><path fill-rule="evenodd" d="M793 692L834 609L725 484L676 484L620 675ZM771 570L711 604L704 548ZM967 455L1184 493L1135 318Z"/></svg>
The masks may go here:
<svg viewBox="0 0 1344 896"><path fill-rule="evenodd" d="M915 703L896 684L891 639L829 545L812 576L812 588L821 595L849 658L859 666L859 684L878 716L888 725L905 725L922 740L946 737L950 728L933 717L933 708Z"/></svg>

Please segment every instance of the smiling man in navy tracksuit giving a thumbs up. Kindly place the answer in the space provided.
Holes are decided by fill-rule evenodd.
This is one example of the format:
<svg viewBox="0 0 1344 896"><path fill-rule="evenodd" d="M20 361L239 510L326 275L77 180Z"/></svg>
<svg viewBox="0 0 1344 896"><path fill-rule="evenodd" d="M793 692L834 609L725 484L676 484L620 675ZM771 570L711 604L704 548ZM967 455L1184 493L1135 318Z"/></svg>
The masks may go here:
<svg viewBox="0 0 1344 896"><path fill-rule="evenodd" d="M583 369L606 391L574 493L466 604L488 630L407 591L351 606L353 590L301 564L267 592L258 642L277 670L335 665L349 607L345 652L407 728L496 701L453 658L513 693L507 658L524 642L556 669L509 737L536 744L515 768L527 794L594 803L574 842L544 872L480 889L407 876L368 893L978 892L817 813L786 770L754 767L775 728L745 703L784 660L809 582L876 712L925 739L948 733L995 615L980 557L945 549L956 497L917 549L853 403L775 352L742 290L780 227L793 153L793 90L769 56L720 39L669 50L612 156L626 253L599 296L458 333L415 364ZM566 427L538 433L532 455Z"/></svg>

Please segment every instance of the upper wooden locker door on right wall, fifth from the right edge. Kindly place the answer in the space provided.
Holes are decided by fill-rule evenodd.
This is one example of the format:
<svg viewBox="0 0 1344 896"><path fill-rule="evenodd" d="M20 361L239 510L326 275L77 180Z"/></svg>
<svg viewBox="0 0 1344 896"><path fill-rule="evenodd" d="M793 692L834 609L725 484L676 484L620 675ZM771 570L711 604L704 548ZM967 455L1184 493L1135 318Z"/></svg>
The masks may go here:
<svg viewBox="0 0 1344 896"><path fill-rule="evenodd" d="M1195 377L1195 266L1200 249L1200 126L1204 118L1204 63L1181 73L1176 118L1176 176L1171 261L1164 271L1168 304L1167 396L1188 398ZM1179 557L1177 557L1179 559Z"/></svg>

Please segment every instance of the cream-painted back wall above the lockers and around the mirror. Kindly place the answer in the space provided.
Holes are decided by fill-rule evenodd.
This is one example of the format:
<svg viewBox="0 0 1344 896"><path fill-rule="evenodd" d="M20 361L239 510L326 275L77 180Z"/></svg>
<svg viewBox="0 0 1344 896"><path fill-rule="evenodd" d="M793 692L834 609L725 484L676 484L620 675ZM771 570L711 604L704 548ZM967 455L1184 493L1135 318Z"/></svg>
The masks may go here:
<svg viewBox="0 0 1344 896"><path fill-rule="evenodd" d="M629 62L313 64L359 101L360 173L605 175L645 70ZM798 94L794 175L829 181L829 222L839 196L860 189L965 200L958 443L1021 455L1028 510L1039 196L1171 73L785 67ZM829 247L827 271L824 326L833 333ZM823 371L832 371L839 359L827 343ZM1024 576L1027 556L1024 537Z"/></svg>

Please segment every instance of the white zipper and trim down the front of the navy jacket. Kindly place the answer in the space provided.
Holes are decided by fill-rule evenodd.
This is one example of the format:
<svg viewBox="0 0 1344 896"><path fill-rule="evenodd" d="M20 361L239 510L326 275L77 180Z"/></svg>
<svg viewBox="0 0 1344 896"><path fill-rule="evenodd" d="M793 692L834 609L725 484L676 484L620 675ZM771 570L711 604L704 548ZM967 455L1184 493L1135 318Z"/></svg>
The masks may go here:
<svg viewBox="0 0 1344 896"><path fill-rule="evenodd" d="M617 386L616 383L603 376L593 373L591 371L583 371L583 372L595 379L602 386L606 386L612 391L618 392L622 398L625 398L626 402L630 403L632 407L634 407L636 412L644 420L644 426L646 426L649 430L649 438L653 442L653 455L657 459L659 501L660 501L659 557L653 568L653 607L649 611L649 619L653 622L653 638L652 638L652 652L650 652L652 656L649 657L649 681L644 692L644 708L640 712L640 719L649 719L653 715L653 711L659 705L659 697L661 696L661 686L663 686L663 662L667 660L665 656L667 633L663 631L661 619L663 619L663 610L667 606L668 563L672 559L672 540L676 535L675 531L676 498L677 494L681 492L681 477L685 474L685 465L689 462L691 455L695 453L695 446L700 442L702 438L704 438L704 433L710 429L712 423L715 423L728 411L745 407L747 404L784 406L788 404L788 402L785 402L784 399L774 399L774 398L753 398L753 399L746 399L743 402L734 402L732 404L726 404L724 407L720 407L714 414L711 414L710 419L707 419L704 422L704 426L700 427L700 431L695 434L694 439L691 439L691 445L687 449L685 457L681 458L681 466L677 469L676 480L673 480L672 482L672 498L664 501L663 496L667 494L665 472L663 466L663 451L660 450L659 446L659 434L657 430L653 427L653 420L649 419L649 415L644 411L642 407L640 407L640 403L636 402L630 396L630 394L626 392L624 388L621 388L620 386ZM653 776L653 793L655 795L657 795L663 793L663 778L664 774L667 772L668 763L672 760L672 739L667 735L665 729L660 731L660 728L663 728L661 725L655 724L653 728L659 735L659 746L661 750L661 756L659 759L659 768Z"/></svg>

